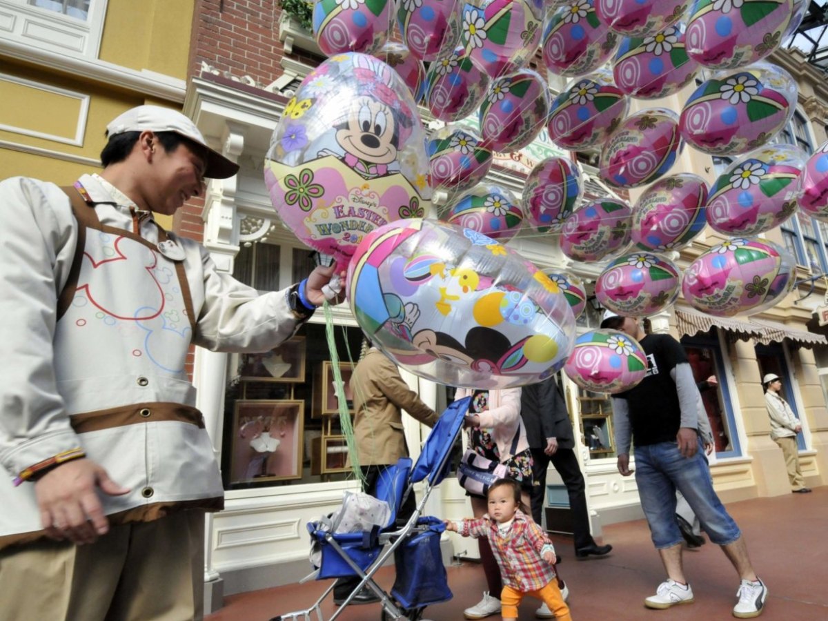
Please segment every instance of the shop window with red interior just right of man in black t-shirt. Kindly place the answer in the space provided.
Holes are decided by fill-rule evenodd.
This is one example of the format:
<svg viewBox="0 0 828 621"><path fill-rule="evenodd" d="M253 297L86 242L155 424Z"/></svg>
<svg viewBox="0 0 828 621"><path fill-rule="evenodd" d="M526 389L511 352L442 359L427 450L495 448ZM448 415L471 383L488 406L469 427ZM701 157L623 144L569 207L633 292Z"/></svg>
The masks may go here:
<svg viewBox="0 0 828 621"><path fill-rule="evenodd" d="M705 405L707 420L713 432L716 455L735 457L741 455L739 435L736 433L733 405L730 402L730 388L724 374L724 360L719 342L713 338L684 337L681 344L687 360L693 369L693 379L699 387L701 401ZM716 378L715 385L706 382Z"/></svg>

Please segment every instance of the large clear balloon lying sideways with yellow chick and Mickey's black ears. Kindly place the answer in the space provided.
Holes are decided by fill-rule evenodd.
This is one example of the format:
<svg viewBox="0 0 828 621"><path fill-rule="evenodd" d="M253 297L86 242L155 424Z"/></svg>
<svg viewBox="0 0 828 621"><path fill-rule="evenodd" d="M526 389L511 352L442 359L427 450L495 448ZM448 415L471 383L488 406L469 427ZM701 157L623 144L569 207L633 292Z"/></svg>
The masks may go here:
<svg viewBox="0 0 828 621"><path fill-rule="evenodd" d="M365 335L421 378L513 388L560 369L575 336L561 289L492 238L435 220L368 234L346 292Z"/></svg>

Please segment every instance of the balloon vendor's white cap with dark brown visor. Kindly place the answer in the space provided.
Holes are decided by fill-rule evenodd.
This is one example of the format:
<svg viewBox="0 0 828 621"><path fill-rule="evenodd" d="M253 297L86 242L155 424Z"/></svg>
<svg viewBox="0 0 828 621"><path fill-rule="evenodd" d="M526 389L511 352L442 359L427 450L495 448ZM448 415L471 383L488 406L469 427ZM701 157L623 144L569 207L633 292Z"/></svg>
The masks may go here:
<svg viewBox="0 0 828 621"><path fill-rule="evenodd" d="M106 126L108 137L124 132L176 132L178 135L205 147L207 168L205 177L227 179L238 172L238 164L207 146L205 137L190 118L172 108L137 106L127 110Z"/></svg>

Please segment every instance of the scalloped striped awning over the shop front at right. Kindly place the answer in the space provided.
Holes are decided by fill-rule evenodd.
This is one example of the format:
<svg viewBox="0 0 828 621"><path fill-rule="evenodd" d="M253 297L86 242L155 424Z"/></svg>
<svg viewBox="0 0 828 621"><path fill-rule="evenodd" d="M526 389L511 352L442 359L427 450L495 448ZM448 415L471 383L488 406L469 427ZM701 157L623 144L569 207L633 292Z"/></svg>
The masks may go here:
<svg viewBox="0 0 828 621"><path fill-rule="evenodd" d="M676 328L681 335L693 336L711 328L726 330L734 340L755 340L758 343L782 343L788 339L797 347L811 349L814 345L828 345L828 339L806 330L794 330L787 325L765 320L738 320L729 317L702 315L693 310L676 309Z"/></svg>

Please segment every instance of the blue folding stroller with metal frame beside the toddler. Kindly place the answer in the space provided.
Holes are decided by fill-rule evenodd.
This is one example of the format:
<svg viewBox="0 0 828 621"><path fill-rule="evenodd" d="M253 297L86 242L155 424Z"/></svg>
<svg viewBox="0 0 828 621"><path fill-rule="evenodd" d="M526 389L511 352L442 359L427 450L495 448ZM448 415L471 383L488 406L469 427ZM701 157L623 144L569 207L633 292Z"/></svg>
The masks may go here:
<svg viewBox="0 0 828 621"><path fill-rule="evenodd" d="M356 575L359 585L331 615L336 619L363 587L378 595L385 621L420 621L429 604L451 599L445 566L440 556L440 533L445 525L438 517L421 517L431 489L440 484L449 469L451 448L463 428L463 418L469 410L469 397L453 402L431 430L420 457L412 467L412 460L403 457L386 469L378 479L377 498L388 502L391 517L388 523L369 532L330 532L320 522L308 523L311 542L318 544L321 561L316 580ZM416 511L407 523L397 527L397 511L414 484L424 481L424 492ZM383 551L384 548L384 551ZM394 555L397 579L390 595L373 580L373 575ZM271 621L323 621L320 604L334 590L331 584L309 609L282 614Z"/></svg>

